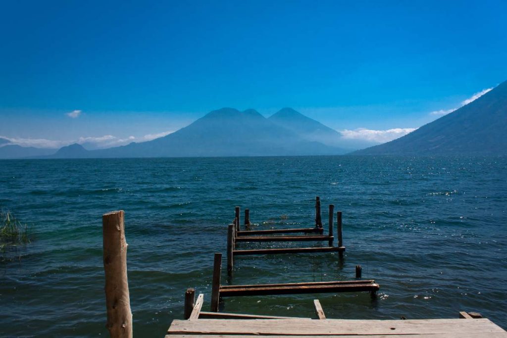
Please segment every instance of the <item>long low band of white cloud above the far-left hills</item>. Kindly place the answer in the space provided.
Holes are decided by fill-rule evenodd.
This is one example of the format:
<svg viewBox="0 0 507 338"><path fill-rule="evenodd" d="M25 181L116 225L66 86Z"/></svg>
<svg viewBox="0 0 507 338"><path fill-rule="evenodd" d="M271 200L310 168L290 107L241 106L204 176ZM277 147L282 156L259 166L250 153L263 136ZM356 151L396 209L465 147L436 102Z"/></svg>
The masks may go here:
<svg viewBox="0 0 507 338"><path fill-rule="evenodd" d="M146 142L151 141L159 137L163 137L171 134L173 131L164 131L156 134L147 134L140 137L129 136L129 137L116 137L114 135L104 135L104 136L87 136L80 137L75 140L48 140L44 138L20 138L20 137L7 137L0 135L0 138L4 138L8 140L7 143L2 143L0 146L5 146L9 144L18 144L21 146L32 146L36 148L60 148L65 145L79 143L79 144L88 144L91 148L108 148L112 146L125 145L131 142Z"/></svg>

